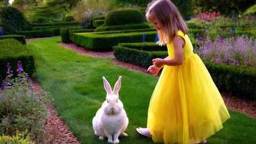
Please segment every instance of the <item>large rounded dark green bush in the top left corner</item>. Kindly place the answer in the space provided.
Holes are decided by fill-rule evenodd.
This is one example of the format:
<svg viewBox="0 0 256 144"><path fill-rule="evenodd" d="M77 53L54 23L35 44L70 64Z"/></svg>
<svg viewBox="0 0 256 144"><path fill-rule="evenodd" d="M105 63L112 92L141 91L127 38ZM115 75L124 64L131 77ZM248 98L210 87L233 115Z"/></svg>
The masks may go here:
<svg viewBox="0 0 256 144"><path fill-rule="evenodd" d="M13 7L5 7L1 10L2 20L0 26L5 34L17 34L17 31L31 29L30 23L24 14Z"/></svg>

